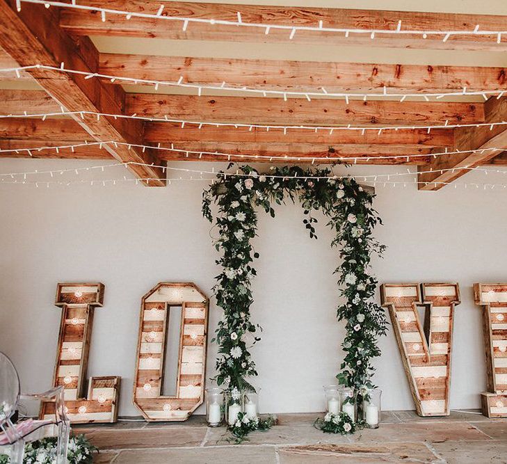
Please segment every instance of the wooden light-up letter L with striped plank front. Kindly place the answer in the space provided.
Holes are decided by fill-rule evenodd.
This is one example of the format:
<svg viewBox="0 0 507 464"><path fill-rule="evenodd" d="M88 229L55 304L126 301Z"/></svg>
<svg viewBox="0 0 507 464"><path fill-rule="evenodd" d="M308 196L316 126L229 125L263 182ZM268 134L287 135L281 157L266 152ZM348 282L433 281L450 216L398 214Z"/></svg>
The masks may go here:
<svg viewBox="0 0 507 464"><path fill-rule="evenodd" d="M91 377L82 397L92 335L93 310L102 306L104 284L58 284L56 306L62 307L54 386L63 385L65 407L74 424L116 422L120 377ZM54 417L54 403L42 403L41 419Z"/></svg>

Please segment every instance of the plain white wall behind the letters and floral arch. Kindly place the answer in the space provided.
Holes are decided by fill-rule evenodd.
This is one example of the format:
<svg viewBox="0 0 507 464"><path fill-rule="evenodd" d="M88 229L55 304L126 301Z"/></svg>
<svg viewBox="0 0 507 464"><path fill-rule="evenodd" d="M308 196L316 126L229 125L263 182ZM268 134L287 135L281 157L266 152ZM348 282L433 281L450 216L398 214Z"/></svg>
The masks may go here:
<svg viewBox="0 0 507 464"><path fill-rule="evenodd" d="M97 162L95 162L97 164ZM85 161L6 161L2 172L89 166ZM176 165L175 165L176 166ZM182 165L178 165L182 166ZM204 163L186 165L209 168ZM356 168L395 173L397 168ZM106 178L116 178L123 171ZM95 178L97 173L93 174ZM102 175L102 174L101 174ZM62 178L81 179L74 173ZM483 175L468 175L463 179ZM488 182L506 177L489 175ZM172 182L166 188L117 186L0 185L0 349L13 358L25 391L51 385L60 310L57 282L100 281L104 307L95 312L88 375L122 376L120 415L138 415L131 390L140 298L156 282L193 281L211 297L217 255L216 230L201 217L203 182ZM376 236L389 248L375 259L380 282L459 282L451 408L478 408L485 387L481 312L472 283L505 282L507 230L505 191L379 186L376 207L385 225ZM302 210L288 204L272 219L259 211L255 249L259 276L253 319L264 333L253 353L265 412L323 408L321 386L333 381L342 353L343 324L335 320L337 251L319 224L319 240L307 237ZM209 333L220 310L211 300ZM211 339L211 336L209 337ZM413 409L393 333L380 341L376 383L385 409ZM208 376L216 345L209 346ZM201 409L202 411L202 409Z"/></svg>

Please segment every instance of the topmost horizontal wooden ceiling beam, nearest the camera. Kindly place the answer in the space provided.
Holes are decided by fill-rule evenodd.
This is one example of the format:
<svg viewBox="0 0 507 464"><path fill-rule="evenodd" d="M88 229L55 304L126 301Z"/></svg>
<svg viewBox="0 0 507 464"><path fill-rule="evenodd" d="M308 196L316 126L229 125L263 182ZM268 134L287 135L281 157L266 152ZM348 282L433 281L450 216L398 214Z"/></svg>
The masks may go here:
<svg viewBox="0 0 507 464"><path fill-rule="evenodd" d="M148 0L82 0L80 5L156 14L159 1ZM125 35L177 40L224 40L235 42L291 42L319 45L367 45L368 47L434 48L496 50L506 49L507 37L497 44L497 36L460 35L443 40L445 31L473 31L476 24L486 31L504 31L505 17L499 15L465 15L453 13L418 13L410 11L349 10L341 8L303 8L287 6L233 5L220 3L164 3L163 16L222 19L237 21L237 13L245 23L284 24L287 26L319 25L338 29L383 29L395 31L401 21L403 30L442 31L440 35L376 33L372 40L367 33L325 33L297 31L290 38L289 30L265 29L220 24L191 23L184 31L181 21L143 19L107 14L103 22L95 11L62 8L61 27L74 35Z"/></svg>

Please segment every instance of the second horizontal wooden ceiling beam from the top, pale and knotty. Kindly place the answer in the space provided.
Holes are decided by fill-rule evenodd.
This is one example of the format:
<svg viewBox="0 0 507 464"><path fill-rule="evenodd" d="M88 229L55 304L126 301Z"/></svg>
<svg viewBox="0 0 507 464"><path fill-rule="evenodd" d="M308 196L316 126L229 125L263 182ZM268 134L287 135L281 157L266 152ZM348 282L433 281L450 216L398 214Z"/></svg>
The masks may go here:
<svg viewBox="0 0 507 464"><path fill-rule="evenodd" d="M453 92L507 89L507 68L101 54L101 74L300 92ZM170 91L171 87L167 87Z"/></svg>

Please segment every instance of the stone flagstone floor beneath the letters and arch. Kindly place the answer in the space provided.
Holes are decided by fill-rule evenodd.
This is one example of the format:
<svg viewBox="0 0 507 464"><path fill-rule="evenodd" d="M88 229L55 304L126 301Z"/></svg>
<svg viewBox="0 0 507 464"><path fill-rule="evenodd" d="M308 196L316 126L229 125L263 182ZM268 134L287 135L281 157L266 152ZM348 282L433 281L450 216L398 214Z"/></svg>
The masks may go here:
<svg viewBox="0 0 507 464"><path fill-rule="evenodd" d="M241 445L227 441L224 427L207 427L202 416L172 424L90 424L74 433L85 433L101 450L96 463L507 463L507 419L477 412L421 418L390 411L379 429L348 436L314 429L319 413L285 414Z"/></svg>

